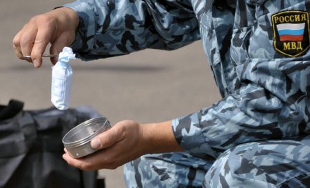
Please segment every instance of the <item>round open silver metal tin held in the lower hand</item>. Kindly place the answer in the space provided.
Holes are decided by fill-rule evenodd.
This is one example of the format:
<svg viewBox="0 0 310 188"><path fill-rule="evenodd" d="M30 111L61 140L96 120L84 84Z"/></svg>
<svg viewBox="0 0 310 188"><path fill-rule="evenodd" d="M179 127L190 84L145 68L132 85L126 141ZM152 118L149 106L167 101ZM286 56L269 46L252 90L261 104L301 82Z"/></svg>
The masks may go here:
<svg viewBox="0 0 310 188"><path fill-rule="evenodd" d="M105 117L92 118L71 129L63 136L63 145L73 158L87 156L96 152L90 146L92 138L110 129L110 122Z"/></svg>

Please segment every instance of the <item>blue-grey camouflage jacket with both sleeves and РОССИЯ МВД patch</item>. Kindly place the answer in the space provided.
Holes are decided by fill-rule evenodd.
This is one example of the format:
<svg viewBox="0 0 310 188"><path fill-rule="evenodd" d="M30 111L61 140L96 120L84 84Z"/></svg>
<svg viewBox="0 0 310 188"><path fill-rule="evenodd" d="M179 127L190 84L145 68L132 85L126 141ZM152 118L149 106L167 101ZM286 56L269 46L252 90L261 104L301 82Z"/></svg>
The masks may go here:
<svg viewBox="0 0 310 188"><path fill-rule="evenodd" d="M198 39L223 96L174 119L178 143L215 158L241 143L310 129L310 1L92 0L65 6L81 19L72 48L81 59Z"/></svg>

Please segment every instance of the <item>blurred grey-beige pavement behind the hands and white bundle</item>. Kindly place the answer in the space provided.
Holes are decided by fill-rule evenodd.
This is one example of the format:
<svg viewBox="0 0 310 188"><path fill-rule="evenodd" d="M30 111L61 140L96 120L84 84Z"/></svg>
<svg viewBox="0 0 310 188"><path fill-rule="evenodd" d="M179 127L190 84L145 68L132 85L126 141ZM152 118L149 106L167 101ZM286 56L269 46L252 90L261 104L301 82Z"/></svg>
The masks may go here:
<svg viewBox="0 0 310 188"><path fill-rule="evenodd" d="M17 59L12 39L30 17L70 1L0 1L0 103L25 109L50 107L51 63L39 69ZM207 107L220 95L200 42L170 52L144 50L97 61L72 61L71 106L90 105L112 124L166 121ZM107 188L125 187L123 167L100 170Z"/></svg>

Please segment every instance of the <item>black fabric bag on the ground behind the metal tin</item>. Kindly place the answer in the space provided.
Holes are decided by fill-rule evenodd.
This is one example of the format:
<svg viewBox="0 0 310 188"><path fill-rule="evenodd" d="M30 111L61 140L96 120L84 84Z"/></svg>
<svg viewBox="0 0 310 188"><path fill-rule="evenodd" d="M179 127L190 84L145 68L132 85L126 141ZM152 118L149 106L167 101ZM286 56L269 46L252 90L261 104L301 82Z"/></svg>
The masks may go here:
<svg viewBox="0 0 310 188"><path fill-rule="evenodd" d="M23 111L23 103L0 105L1 188L99 188L97 171L82 171L63 160L63 136L92 113L77 109Z"/></svg>

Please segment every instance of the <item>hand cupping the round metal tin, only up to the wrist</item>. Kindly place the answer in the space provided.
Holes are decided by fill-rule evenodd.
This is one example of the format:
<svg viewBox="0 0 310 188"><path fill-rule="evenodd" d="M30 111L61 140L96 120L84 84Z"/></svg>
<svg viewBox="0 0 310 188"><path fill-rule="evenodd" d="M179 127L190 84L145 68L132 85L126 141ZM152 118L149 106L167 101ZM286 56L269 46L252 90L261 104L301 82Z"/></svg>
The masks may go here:
<svg viewBox="0 0 310 188"><path fill-rule="evenodd" d="M84 170L115 169L144 152L141 125L134 121L121 121L91 142L95 154L83 158L72 158L65 149L63 158L74 167Z"/></svg>

